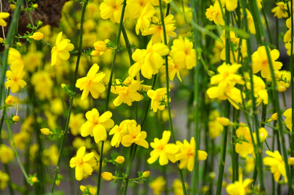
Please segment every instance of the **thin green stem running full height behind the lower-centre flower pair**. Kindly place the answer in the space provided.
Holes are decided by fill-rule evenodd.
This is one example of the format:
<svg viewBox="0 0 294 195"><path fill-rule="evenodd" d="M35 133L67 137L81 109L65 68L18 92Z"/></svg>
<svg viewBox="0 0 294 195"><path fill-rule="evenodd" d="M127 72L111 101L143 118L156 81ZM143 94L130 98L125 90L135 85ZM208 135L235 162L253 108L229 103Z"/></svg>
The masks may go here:
<svg viewBox="0 0 294 195"><path fill-rule="evenodd" d="M161 1L159 1L159 9L160 9L160 18L161 18L161 23L162 23L162 28L163 28L164 44L167 45L166 31L165 31L165 24L164 24L164 17L163 17ZM171 129L172 141L175 143L175 133L174 133L174 129L173 129L173 125L172 125L172 118L171 118L171 105L169 102L170 95L169 95L169 77L168 77L168 55L165 56L165 73L166 73L166 77L165 77L166 78L166 96L167 96L167 105L168 105L169 125L170 125L170 129ZM197 156L197 153L195 155ZM178 164L179 164L179 161L178 161ZM187 192L186 192L186 186L185 186L185 181L184 181L182 170L179 169L179 172L180 172L182 185L183 185L183 193L184 193L184 195L186 195Z"/></svg>

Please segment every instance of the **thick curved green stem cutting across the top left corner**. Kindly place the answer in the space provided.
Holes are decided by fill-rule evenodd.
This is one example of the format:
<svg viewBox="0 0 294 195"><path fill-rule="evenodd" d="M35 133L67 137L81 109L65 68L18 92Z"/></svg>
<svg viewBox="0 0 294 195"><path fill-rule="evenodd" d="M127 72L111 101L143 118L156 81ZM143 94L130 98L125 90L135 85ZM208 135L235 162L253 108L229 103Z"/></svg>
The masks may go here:
<svg viewBox="0 0 294 195"><path fill-rule="evenodd" d="M16 5L16 9L14 10L13 13L13 17L11 19L10 22L10 26L9 26L9 30L7 33L7 37L6 37L6 45L5 45L5 51L3 54L3 61L1 64L1 78L0 78L0 102L2 101L2 89L4 88L4 78L5 78L5 73L6 73L6 69L7 69L7 59L8 59L8 50L10 47L10 43L13 39L13 35L14 35L14 30L17 24L17 18L21 12L21 6L24 3L24 0L18 0L17 1L17 5ZM1 134L0 134L1 136Z"/></svg>

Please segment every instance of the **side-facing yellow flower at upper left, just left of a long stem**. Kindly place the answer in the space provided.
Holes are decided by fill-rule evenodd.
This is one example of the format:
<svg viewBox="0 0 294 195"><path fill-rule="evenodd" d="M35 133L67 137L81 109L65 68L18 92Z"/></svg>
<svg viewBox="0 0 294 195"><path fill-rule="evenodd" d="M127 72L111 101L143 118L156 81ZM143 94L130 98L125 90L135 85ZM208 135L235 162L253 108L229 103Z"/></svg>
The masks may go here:
<svg viewBox="0 0 294 195"><path fill-rule="evenodd" d="M69 51L74 49L74 45L70 43L70 39L62 39L62 31L58 33L55 41L55 46L51 50L51 66L60 66L61 60L70 58Z"/></svg>

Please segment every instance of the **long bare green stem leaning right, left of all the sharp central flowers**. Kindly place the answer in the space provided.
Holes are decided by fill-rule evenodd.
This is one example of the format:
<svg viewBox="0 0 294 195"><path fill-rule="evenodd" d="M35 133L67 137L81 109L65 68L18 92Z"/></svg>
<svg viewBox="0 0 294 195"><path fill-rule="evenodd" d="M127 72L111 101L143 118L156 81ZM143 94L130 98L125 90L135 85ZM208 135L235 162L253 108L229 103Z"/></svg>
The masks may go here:
<svg viewBox="0 0 294 195"><path fill-rule="evenodd" d="M78 69L79 69L80 58L81 58L81 53L82 53L83 24L84 24L84 17L85 17L87 4L88 4L88 0L85 0L84 6L83 6L83 9L82 9L82 14L81 14L80 43L79 43L79 49L78 49L78 52L77 52L77 63L76 63L76 69L75 69L75 73L74 73L74 80L73 80L73 83L72 83L72 89L71 89L72 92L75 91L75 85L76 85L76 82L77 82L77 72L78 72ZM60 146L60 150L59 150L59 156L58 156L58 160L57 160L57 164L56 164L56 168L55 168L55 175L54 175L50 195L53 195L54 187L55 187L55 181L56 181L56 178L57 178L58 172L59 172L59 166L60 166L60 162L61 162L61 158L62 158L62 154L63 154L63 149L64 149L64 146L65 146L66 137L67 137L67 134L68 134L68 126L69 126L69 123L70 123L70 115L71 115L71 111L72 111L72 108L73 108L73 102L74 102L74 96L70 96L70 107L68 109L66 126L65 126L64 135L63 135L62 141L61 141L61 146Z"/></svg>

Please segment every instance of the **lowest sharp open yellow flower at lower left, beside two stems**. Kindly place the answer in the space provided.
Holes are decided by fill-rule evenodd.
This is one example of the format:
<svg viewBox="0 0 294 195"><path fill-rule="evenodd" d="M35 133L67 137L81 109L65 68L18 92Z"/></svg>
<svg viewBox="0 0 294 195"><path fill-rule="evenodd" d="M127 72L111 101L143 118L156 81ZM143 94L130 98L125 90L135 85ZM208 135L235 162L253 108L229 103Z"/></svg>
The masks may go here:
<svg viewBox="0 0 294 195"><path fill-rule="evenodd" d="M86 148L81 147L77 151L77 156L70 159L70 167L76 167L76 180L81 181L83 174L92 175L92 167L89 165L89 161L94 158L94 152L90 152L85 155Z"/></svg>

